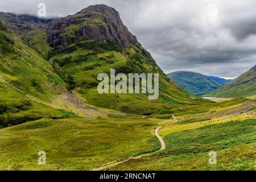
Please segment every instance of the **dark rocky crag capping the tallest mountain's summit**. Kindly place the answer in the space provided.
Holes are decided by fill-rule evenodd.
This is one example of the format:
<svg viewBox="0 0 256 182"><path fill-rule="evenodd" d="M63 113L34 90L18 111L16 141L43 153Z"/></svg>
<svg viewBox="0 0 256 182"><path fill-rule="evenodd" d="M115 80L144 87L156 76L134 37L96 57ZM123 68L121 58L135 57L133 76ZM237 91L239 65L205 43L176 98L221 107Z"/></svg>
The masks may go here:
<svg viewBox="0 0 256 182"><path fill-rule="evenodd" d="M123 25L119 13L106 5L89 6L75 15L49 23L47 41L51 47L68 47L80 40L112 41L120 47L137 43L137 38Z"/></svg>

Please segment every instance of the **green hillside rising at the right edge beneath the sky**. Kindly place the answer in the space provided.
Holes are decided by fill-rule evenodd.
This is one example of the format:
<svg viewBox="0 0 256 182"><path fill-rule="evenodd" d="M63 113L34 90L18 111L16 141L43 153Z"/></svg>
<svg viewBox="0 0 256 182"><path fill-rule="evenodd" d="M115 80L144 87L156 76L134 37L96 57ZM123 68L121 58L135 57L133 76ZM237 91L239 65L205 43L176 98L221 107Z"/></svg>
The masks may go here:
<svg viewBox="0 0 256 182"><path fill-rule="evenodd" d="M256 97L256 65L233 81L210 92L210 97Z"/></svg>

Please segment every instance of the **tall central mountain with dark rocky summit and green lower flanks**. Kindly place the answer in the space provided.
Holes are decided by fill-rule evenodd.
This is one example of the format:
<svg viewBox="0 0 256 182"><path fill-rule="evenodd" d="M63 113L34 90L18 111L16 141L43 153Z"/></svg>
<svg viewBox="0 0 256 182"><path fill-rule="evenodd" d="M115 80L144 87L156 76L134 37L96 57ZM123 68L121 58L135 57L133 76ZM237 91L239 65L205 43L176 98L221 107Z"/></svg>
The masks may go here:
<svg viewBox="0 0 256 182"><path fill-rule="evenodd" d="M193 104L199 100L167 78L112 7L89 6L75 15L52 20L47 41L52 47L49 62L63 80L73 78L72 90L89 104L150 115L170 108L170 104ZM99 94L97 76L109 74L111 68L116 74L159 73L159 100L150 101L146 94Z"/></svg>

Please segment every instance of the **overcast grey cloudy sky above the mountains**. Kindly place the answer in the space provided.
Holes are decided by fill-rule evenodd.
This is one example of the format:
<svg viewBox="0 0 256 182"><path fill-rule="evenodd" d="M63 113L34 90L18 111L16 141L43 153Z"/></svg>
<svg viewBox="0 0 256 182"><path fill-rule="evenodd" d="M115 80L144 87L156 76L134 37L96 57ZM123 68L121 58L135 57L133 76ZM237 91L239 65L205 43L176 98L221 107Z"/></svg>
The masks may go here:
<svg viewBox="0 0 256 182"><path fill-rule="evenodd" d="M235 78L256 64L256 1L1 0L0 11L65 16L84 7L114 7L164 72Z"/></svg>

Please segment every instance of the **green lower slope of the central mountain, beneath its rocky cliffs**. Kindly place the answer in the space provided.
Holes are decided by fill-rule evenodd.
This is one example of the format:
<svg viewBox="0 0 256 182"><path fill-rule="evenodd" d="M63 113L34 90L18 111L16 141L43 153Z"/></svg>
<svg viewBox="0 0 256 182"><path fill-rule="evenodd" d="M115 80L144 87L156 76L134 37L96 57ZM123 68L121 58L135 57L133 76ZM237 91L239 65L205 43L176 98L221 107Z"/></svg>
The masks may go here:
<svg viewBox="0 0 256 182"><path fill-rule="evenodd" d="M126 113L150 115L174 104L196 104L199 98L185 92L168 80L151 57L143 55L141 45L122 51L97 51L77 49L71 53L55 55L50 61L67 82L73 77L74 89L82 94L89 104L106 107ZM138 57L138 61L134 57ZM115 68L117 73L160 73L160 97L150 101L146 94L99 94L97 75L108 73Z"/></svg>

